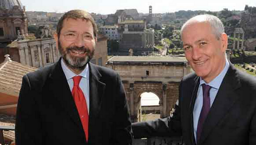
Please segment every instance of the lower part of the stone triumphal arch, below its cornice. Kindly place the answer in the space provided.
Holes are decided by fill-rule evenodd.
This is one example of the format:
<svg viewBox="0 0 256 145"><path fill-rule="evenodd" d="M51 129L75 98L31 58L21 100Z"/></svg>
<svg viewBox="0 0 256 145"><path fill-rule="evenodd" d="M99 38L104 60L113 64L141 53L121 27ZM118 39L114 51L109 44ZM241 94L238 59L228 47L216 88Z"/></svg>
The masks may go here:
<svg viewBox="0 0 256 145"><path fill-rule="evenodd" d="M141 97L144 92L152 92L157 95L160 100L160 117L168 117L170 110L174 107L178 99L177 82L164 84L162 82L123 82L125 86L126 96L130 107L132 122L137 122L141 115Z"/></svg>

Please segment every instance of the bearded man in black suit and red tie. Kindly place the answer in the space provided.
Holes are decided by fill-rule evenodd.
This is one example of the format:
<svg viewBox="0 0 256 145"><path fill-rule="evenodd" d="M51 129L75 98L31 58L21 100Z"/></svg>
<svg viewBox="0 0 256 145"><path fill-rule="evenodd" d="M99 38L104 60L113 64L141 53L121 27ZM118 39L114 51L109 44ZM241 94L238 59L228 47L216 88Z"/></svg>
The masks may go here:
<svg viewBox="0 0 256 145"><path fill-rule="evenodd" d="M72 10L54 36L53 65L26 74L17 105L16 145L129 145L131 121L119 75L90 63L97 27Z"/></svg>

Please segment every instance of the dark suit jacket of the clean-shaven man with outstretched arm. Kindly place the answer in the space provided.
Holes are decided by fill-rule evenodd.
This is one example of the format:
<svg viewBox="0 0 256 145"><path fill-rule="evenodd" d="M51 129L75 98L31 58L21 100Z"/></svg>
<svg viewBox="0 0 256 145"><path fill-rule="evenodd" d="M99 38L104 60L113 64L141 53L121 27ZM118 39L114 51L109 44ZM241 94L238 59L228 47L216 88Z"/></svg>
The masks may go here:
<svg viewBox="0 0 256 145"><path fill-rule="evenodd" d="M184 77L173 117L132 124L134 137L181 135L186 145L195 145L193 108L199 82L194 73ZM256 145L256 79L231 63L197 145Z"/></svg>

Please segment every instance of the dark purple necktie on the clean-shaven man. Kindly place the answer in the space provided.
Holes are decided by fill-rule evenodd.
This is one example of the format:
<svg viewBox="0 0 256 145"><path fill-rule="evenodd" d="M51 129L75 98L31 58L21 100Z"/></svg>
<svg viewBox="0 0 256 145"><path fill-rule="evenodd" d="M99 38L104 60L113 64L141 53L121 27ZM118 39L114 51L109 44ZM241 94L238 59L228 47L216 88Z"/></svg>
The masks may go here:
<svg viewBox="0 0 256 145"><path fill-rule="evenodd" d="M200 113L200 116L199 116L198 127L197 127L197 131L196 131L197 143L200 139L201 132L203 130L204 121L207 117L207 114L208 114L210 108L211 108L211 106L210 106L210 97L209 97L211 86L203 84L202 87L203 87L203 107L202 107L202 110L201 110L201 113Z"/></svg>

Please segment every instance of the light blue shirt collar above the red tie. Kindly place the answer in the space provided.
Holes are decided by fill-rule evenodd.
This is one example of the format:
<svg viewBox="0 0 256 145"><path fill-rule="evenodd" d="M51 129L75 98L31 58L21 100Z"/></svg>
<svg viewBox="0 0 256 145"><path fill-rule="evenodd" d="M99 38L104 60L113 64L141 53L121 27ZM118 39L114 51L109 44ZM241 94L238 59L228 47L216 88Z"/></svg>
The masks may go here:
<svg viewBox="0 0 256 145"><path fill-rule="evenodd" d="M72 79L73 77L75 76L81 76L81 77L84 77L86 79L89 79L89 66L88 66L88 63L86 64L84 70L80 73L80 74L75 74L73 71L71 71L67 65L64 63L64 60L63 58L61 58L61 68L66 76L66 79L67 80L70 80Z"/></svg>

